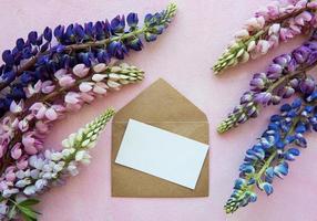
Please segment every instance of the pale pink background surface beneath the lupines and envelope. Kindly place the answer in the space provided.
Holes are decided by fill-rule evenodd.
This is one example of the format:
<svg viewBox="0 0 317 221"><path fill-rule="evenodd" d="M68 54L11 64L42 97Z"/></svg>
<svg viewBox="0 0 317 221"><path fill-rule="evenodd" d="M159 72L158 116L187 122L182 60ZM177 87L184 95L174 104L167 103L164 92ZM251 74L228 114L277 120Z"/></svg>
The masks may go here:
<svg viewBox="0 0 317 221"><path fill-rule="evenodd" d="M96 21L117 13L162 10L168 0L1 0L0 50L11 49L17 38L29 31L41 31L70 22ZM252 13L268 0L178 0L178 14L158 41L146 44L141 53L132 53L126 62L142 67L146 80L99 99L80 113L57 123L47 140L57 148L78 127L102 113L108 106L120 109L158 77L165 78L195 105L211 123L211 197L204 199L115 199L110 197L111 127L102 134L92 151L93 160L64 187L41 197L40 220L61 221L316 221L317 220L317 137L309 137L310 148L290 166L290 175L275 182L275 193L259 193L256 203L226 215L223 206L232 192L244 151L266 128L276 107L266 109L252 120L219 136L216 125L237 104L248 88L252 73L264 71L275 55L287 52L303 41L297 39L256 62L227 71L215 77L211 66Z"/></svg>

